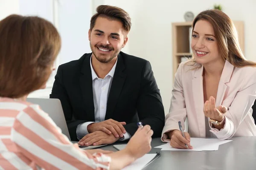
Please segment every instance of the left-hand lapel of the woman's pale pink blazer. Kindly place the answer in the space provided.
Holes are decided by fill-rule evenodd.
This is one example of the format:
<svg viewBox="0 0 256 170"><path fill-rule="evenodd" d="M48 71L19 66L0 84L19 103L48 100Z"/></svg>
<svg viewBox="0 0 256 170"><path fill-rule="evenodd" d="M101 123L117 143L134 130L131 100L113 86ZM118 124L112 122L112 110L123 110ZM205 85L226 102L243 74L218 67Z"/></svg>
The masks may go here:
<svg viewBox="0 0 256 170"><path fill-rule="evenodd" d="M201 137L205 136L205 116L204 116L204 90L203 90L203 70L201 66L198 70L194 71L194 77L192 79L192 96L195 107L195 115L198 121L198 132Z"/></svg>

